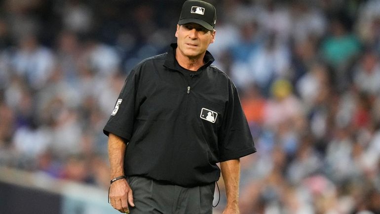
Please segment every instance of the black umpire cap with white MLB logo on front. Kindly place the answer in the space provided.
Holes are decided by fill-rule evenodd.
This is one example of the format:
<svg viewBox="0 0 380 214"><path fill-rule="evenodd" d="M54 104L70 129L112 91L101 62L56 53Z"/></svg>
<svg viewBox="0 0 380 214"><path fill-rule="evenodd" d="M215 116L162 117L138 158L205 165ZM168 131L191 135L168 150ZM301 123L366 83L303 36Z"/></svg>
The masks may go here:
<svg viewBox="0 0 380 214"><path fill-rule="evenodd" d="M207 30L212 30L216 23L215 7L201 0L187 0L182 5L179 25L196 23Z"/></svg>

